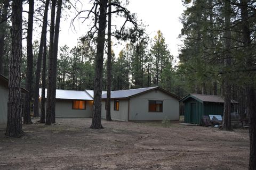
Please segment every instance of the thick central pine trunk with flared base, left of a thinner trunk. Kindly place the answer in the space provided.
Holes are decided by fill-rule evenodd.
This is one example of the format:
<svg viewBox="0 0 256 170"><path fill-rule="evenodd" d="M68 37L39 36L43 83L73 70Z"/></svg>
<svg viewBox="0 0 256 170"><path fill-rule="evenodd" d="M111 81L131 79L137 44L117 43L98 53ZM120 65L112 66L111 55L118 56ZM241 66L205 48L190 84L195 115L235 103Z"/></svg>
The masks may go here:
<svg viewBox="0 0 256 170"><path fill-rule="evenodd" d="M101 93L102 93L102 70L103 70L103 54L105 44L105 29L107 20L107 4L108 0L100 0L100 16L99 29L97 38L97 53L95 60L95 77L94 77L94 102L92 124L90 128L101 129Z"/></svg>

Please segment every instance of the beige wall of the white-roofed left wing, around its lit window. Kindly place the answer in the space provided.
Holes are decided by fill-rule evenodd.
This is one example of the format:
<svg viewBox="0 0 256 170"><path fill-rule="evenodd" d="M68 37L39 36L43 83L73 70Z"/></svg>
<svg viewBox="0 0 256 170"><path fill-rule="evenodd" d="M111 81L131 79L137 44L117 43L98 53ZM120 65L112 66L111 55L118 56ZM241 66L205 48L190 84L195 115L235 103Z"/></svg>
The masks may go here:
<svg viewBox="0 0 256 170"><path fill-rule="evenodd" d="M86 100L86 109L72 109L73 100L57 99L55 105L56 117L92 117L92 100ZM46 103L45 103L46 110Z"/></svg>

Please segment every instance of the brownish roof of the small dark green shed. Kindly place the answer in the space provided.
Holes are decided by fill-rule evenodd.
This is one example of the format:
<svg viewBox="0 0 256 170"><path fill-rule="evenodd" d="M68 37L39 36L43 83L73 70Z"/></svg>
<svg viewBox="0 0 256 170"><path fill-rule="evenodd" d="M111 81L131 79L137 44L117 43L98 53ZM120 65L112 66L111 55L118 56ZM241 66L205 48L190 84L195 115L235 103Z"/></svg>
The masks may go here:
<svg viewBox="0 0 256 170"><path fill-rule="evenodd" d="M187 96L183 97L180 101L185 101L189 97L194 98L201 103L203 102L213 102L213 103L224 103L222 96L214 96L214 95L201 95L201 94L188 94ZM237 103L235 100L231 100L231 103Z"/></svg>

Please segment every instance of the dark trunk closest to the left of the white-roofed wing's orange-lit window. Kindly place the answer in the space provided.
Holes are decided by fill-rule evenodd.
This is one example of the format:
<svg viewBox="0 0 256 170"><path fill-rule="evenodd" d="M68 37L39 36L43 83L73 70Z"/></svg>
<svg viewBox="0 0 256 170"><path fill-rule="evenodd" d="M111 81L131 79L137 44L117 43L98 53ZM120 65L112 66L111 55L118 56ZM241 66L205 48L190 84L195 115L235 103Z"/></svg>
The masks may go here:
<svg viewBox="0 0 256 170"><path fill-rule="evenodd" d="M54 0L53 0L53 3ZM57 57L58 57L58 42L59 42L59 30L60 30L60 17L61 17L61 6L62 0L58 0L58 8L55 22L55 32L54 29L54 19L55 12L51 16L51 36L54 34L52 51L49 52L49 71L48 71L48 88L47 88L47 106L46 106L46 122L45 124L51 125L55 123L55 102L56 102L56 75L57 75ZM55 6L54 6L55 8ZM55 11L55 10L54 10ZM53 12L53 11L52 11ZM50 37L51 42L51 37ZM50 122L51 120L51 122Z"/></svg>

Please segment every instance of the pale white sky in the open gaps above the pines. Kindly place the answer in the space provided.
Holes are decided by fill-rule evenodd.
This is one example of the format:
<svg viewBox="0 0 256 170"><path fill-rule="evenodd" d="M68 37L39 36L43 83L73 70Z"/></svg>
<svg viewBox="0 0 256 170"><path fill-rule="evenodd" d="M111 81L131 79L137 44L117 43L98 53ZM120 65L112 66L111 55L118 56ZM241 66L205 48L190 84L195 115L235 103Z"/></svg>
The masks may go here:
<svg viewBox="0 0 256 170"><path fill-rule="evenodd" d="M77 6L81 5L77 4ZM88 6L88 8L90 7L88 4L83 4L83 7L78 7L78 10L79 8L87 8L86 6ZM142 20L142 22L147 25L146 33L150 38L153 39L157 31L161 30L171 54L174 57L178 56L179 45L182 44L178 39L182 29L179 18L183 10L185 10L181 0L130 0L126 8L132 13L137 13L138 19ZM71 19L74 18L76 13L71 9L67 14L68 16L63 17L60 23L59 46L67 45L73 48L77 44L77 39L85 35L89 27L87 27L88 23L82 23L82 20L76 20L74 23L75 29L70 27ZM115 18L113 18L112 23L114 22L121 22L121 20L115 20ZM115 54L118 55L123 47L124 44L114 45L113 49Z"/></svg>

